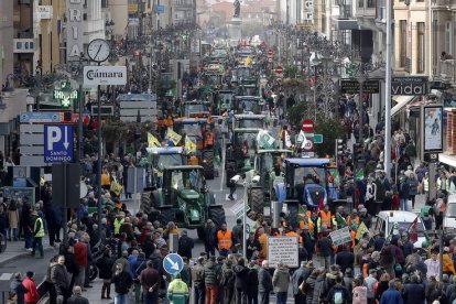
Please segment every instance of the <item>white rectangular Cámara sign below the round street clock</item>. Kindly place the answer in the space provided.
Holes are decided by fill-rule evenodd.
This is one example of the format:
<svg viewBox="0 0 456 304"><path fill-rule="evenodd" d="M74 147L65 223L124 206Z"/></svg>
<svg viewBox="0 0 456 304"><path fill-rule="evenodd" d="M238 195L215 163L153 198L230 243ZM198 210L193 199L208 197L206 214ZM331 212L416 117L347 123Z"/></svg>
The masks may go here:
<svg viewBox="0 0 456 304"><path fill-rule="evenodd" d="M126 66L85 66L84 86L124 86L127 84Z"/></svg>

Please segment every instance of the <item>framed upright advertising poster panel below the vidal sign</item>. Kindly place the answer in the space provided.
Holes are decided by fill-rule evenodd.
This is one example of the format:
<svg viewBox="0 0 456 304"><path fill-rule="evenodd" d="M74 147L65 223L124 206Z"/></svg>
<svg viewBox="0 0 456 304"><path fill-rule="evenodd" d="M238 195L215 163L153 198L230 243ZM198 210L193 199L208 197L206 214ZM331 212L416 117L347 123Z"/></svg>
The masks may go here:
<svg viewBox="0 0 456 304"><path fill-rule="evenodd" d="M422 134L423 152L442 152L443 151L443 107L442 106L423 106L422 113Z"/></svg>

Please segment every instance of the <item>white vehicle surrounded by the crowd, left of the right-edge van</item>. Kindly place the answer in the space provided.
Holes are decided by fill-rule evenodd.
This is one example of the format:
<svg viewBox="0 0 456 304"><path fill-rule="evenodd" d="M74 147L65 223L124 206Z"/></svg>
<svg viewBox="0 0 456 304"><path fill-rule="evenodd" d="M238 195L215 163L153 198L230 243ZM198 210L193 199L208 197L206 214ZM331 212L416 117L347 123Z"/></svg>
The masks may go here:
<svg viewBox="0 0 456 304"><path fill-rule="evenodd" d="M410 211L380 211L377 215L377 222L373 228L373 235L380 234L380 231L383 231L384 237L388 238L388 235L390 234L391 227L394 225L394 222L398 222L398 230L404 230L408 231L412 222L416 218L416 214L410 213ZM393 231L393 235L399 234L398 230ZM421 218L417 218L417 225L416 225L416 231L419 235L417 241L414 243L415 248L421 248L423 241L426 240L424 237L424 225Z"/></svg>

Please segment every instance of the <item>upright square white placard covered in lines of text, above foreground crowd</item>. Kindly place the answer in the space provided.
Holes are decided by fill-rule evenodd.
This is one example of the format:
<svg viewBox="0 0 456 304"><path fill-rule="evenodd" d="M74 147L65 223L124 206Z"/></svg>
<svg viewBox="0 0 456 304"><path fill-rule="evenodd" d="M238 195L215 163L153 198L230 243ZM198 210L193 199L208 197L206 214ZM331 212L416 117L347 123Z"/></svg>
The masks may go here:
<svg viewBox="0 0 456 304"><path fill-rule="evenodd" d="M282 261L289 268L297 268L298 237L268 237L269 267L274 268Z"/></svg>

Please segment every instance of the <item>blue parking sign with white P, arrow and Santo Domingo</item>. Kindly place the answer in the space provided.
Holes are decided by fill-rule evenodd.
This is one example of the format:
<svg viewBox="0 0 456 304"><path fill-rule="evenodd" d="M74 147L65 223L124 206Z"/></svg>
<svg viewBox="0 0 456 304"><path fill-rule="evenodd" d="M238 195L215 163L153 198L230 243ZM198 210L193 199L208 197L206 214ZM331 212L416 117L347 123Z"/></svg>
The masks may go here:
<svg viewBox="0 0 456 304"><path fill-rule="evenodd" d="M44 162L73 162L73 126L44 126Z"/></svg>

